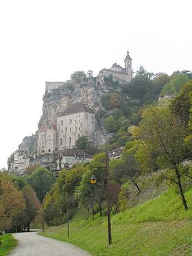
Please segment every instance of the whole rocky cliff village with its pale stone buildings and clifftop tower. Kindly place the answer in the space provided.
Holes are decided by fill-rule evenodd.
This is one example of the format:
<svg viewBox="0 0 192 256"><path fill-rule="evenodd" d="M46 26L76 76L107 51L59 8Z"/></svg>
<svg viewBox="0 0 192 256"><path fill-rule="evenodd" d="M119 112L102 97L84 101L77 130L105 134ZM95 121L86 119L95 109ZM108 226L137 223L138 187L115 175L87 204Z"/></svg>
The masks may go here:
<svg viewBox="0 0 192 256"><path fill-rule="evenodd" d="M78 72L77 72L78 73ZM63 167L89 161L93 154L77 149L77 139L88 138L91 146L98 147L110 139L102 125L101 95L110 90L105 78L120 84L132 80L132 59L127 52L124 67L113 64L110 69L101 69L96 78L89 72L86 78L71 77L67 82L45 82L43 115L38 131L25 137L8 161L11 173L24 175L29 165L39 164L49 170L59 171ZM121 150L120 150L121 151ZM114 152L114 156L121 152Z"/></svg>

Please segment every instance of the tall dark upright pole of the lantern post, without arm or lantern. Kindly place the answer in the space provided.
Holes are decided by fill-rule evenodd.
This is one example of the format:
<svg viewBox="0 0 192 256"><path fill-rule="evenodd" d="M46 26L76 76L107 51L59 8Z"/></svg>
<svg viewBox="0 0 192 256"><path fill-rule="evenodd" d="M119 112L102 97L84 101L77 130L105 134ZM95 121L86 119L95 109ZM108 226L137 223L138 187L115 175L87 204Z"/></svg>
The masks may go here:
<svg viewBox="0 0 192 256"><path fill-rule="evenodd" d="M111 236L111 223L110 223L110 172L109 172L109 160L108 160L108 152L106 151L106 196L107 196L107 217L108 217L108 244L112 243Z"/></svg>

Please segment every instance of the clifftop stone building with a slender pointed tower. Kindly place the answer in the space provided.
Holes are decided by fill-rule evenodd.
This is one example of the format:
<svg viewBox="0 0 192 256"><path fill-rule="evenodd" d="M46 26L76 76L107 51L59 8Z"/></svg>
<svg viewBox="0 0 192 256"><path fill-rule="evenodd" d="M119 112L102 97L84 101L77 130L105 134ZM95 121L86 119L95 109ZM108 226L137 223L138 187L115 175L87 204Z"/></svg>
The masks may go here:
<svg viewBox="0 0 192 256"><path fill-rule="evenodd" d="M104 77L110 75L112 75L113 80L119 81L121 84L130 82L132 80L132 59L130 58L129 51L125 57L124 63L124 68L115 63L110 69L101 69L96 78L97 86L104 83Z"/></svg>

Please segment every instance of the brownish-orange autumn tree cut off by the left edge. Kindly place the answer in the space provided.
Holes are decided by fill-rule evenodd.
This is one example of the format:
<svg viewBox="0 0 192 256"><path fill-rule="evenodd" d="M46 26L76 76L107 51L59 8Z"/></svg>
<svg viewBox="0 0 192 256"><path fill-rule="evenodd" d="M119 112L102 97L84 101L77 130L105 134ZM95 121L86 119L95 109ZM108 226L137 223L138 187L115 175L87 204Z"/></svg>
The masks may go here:
<svg viewBox="0 0 192 256"><path fill-rule="evenodd" d="M10 229L12 220L25 209L21 191L6 174L0 174L0 230Z"/></svg>

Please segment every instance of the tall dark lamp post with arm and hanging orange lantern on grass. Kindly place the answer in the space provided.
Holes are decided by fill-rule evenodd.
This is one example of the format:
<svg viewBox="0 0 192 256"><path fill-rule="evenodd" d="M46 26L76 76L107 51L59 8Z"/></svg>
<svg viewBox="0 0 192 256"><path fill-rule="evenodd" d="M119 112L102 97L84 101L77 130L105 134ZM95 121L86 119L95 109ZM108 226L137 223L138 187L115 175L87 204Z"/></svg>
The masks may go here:
<svg viewBox="0 0 192 256"><path fill-rule="evenodd" d="M96 167L97 170L101 168L106 170L106 200L107 200L106 215L108 218L108 244L110 245L112 243L112 235L111 235L111 222L110 222L110 172L109 172L108 152L106 152L106 167ZM97 178L93 175L90 181L91 181L91 184L95 185L97 183Z"/></svg>

